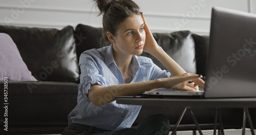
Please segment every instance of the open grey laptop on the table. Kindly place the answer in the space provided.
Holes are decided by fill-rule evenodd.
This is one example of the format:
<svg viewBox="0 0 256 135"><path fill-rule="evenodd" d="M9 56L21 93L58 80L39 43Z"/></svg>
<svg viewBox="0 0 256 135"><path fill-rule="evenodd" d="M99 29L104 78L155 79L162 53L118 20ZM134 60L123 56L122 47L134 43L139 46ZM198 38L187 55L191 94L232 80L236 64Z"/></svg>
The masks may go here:
<svg viewBox="0 0 256 135"><path fill-rule="evenodd" d="M144 94L203 98L256 97L255 24L255 14L212 8L203 91L153 91Z"/></svg>

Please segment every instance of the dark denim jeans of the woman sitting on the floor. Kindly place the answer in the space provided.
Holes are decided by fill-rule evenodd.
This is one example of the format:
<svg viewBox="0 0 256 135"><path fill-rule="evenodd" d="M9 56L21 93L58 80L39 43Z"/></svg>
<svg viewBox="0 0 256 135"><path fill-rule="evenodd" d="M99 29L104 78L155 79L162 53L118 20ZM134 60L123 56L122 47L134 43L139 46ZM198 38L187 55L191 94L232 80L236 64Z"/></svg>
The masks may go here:
<svg viewBox="0 0 256 135"><path fill-rule="evenodd" d="M152 115L141 121L136 128L124 128L120 130L104 130L92 126L71 123L63 131L62 135L162 135L170 130L169 120L164 115Z"/></svg>

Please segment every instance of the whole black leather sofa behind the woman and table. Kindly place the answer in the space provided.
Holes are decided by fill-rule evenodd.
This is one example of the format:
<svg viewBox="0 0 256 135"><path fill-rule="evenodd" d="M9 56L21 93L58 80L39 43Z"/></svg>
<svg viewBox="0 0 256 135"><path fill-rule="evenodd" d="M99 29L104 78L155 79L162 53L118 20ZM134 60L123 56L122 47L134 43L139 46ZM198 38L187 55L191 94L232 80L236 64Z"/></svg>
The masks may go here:
<svg viewBox="0 0 256 135"><path fill-rule="evenodd" d="M100 48L101 28L79 24L75 28L28 28L0 26L0 33L9 34L29 71L38 81L8 80L8 131L4 130L4 109L1 107L1 134L59 134L68 125L67 116L76 106L80 69L79 56L83 51ZM190 31L153 33L159 45L185 71L205 75L208 36ZM155 58L153 61L165 69ZM55 64L53 64L55 63ZM58 65L58 66L56 66ZM1 69L0 69L1 71ZM1 78L2 79L2 78ZM1 89L4 82L0 82ZM0 93L4 97L4 93ZM1 99L1 105L4 100ZM134 125L152 114L164 114L170 124L176 123L183 108L172 106L143 106ZM216 108L192 108L201 129L214 129ZM243 110L221 108L225 129L242 127ZM253 119L255 119L252 116ZM219 126L218 126L219 128ZM178 130L196 130L188 112Z"/></svg>

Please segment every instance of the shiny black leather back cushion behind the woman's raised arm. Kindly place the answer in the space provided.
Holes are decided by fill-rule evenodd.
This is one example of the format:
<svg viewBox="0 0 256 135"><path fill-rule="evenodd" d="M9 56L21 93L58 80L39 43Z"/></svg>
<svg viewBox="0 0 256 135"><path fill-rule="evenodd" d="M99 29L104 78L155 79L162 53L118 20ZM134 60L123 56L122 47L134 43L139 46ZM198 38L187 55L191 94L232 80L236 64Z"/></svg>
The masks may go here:
<svg viewBox="0 0 256 135"><path fill-rule="evenodd" d="M153 33L159 46L172 57L186 72L197 73L195 58L195 42L190 31L173 33ZM161 69L165 66L152 55L143 52L142 56L150 57Z"/></svg>

